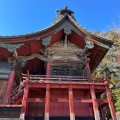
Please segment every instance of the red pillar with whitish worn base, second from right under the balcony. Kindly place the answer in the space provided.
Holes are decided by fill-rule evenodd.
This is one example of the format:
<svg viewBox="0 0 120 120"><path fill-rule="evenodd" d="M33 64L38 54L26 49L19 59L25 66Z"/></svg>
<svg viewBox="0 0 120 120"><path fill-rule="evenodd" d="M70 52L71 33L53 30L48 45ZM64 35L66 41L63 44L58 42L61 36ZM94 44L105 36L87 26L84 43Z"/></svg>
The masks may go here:
<svg viewBox="0 0 120 120"><path fill-rule="evenodd" d="M95 90L93 86L90 88L90 93L91 93L91 98L92 98L92 103L93 103L93 112L94 112L95 120L100 120L98 103L96 101L96 95L95 95Z"/></svg>

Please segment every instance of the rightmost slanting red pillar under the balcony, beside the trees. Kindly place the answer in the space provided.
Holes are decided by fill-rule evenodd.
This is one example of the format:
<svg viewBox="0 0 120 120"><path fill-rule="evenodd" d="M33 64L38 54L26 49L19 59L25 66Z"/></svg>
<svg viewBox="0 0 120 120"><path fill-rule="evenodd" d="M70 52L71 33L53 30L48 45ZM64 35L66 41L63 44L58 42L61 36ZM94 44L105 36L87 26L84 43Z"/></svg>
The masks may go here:
<svg viewBox="0 0 120 120"><path fill-rule="evenodd" d="M115 109L114 109L114 105L113 105L113 102L112 102L112 97L111 97L108 86L105 87L105 91L106 91L106 96L107 96L107 100L108 100L112 120L116 120Z"/></svg>

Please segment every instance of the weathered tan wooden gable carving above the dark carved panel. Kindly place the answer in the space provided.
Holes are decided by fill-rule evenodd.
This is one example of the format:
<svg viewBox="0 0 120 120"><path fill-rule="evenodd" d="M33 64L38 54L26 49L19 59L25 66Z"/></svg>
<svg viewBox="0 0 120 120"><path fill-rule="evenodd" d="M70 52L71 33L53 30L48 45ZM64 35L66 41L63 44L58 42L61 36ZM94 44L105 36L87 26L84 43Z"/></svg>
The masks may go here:
<svg viewBox="0 0 120 120"><path fill-rule="evenodd" d="M50 61L85 61L86 54L83 49L78 48L70 40L59 40L46 49Z"/></svg>

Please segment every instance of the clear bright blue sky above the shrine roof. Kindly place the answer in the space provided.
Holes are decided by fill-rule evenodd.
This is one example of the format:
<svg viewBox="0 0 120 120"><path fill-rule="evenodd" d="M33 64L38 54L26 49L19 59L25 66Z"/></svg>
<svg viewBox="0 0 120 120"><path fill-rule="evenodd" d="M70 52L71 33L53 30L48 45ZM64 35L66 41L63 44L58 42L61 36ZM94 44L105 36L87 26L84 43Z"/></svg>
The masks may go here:
<svg viewBox="0 0 120 120"><path fill-rule="evenodd" d="M42 30L66 4L77 22L90 32L120 26L120 0L0 0L0 36Z"/></svg>

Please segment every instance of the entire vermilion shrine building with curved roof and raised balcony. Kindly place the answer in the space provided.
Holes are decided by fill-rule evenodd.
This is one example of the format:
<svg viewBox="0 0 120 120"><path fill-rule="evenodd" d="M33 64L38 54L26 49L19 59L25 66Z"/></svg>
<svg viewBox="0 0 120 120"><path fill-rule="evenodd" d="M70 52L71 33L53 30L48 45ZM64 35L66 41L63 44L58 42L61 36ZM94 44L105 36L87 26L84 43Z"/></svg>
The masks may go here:
<svg viewBox="0 0 120 120"><path fill-rule="evenodd" d="M1 119L105 120L109 106L116 120L107 78L91 77L113 42L82 28L67 6L57 12L41 31L0 36Z"/></svg>

